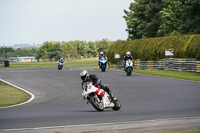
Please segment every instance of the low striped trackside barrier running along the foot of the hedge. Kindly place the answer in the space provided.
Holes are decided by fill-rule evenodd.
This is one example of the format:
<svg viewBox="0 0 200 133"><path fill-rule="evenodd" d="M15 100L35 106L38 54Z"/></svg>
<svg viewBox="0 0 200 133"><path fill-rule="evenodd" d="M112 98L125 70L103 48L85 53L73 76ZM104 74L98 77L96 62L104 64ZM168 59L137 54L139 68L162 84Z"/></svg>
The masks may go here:
<svg viewBox="0 0 200 133"><path fill-rule="evenodd" d="M124 62L120 61L116 64L109 64L110 68L123 68ZM190 71L200 72L200 61L193 58L179 59L169 58L159 61L143 61L134 60L134 69L151 69L151 70L174 70L174 71Z"/></svg>

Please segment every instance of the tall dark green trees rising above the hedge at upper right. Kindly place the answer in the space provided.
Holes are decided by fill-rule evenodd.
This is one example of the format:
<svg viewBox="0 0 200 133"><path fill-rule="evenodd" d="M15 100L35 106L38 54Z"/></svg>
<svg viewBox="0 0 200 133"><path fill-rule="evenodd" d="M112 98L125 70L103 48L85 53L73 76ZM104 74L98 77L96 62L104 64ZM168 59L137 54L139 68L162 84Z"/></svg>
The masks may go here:
<svg viewBox="0 0 200 133"><path fill-rule="evenodd" d="M200 34L200 0L135 0L129 10L128 40Z"/></svg>

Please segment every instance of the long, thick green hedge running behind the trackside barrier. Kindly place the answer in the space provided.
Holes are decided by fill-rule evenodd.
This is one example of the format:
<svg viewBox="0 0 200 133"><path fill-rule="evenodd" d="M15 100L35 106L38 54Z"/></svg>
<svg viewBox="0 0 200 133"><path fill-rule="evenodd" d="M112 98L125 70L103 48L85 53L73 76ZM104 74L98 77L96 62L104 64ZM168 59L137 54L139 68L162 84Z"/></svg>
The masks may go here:
<svg viewBox="0 0 200 133"><path fill-rule="evenodd" d="M107 57L110 62L116 63L130 51L135 60L160 60L166 58L165 50L171 48L174 49L174 58L200 60L200 34L115 42L107 50ZM115 54L119 54L120 59L115 59Z"/></svg>

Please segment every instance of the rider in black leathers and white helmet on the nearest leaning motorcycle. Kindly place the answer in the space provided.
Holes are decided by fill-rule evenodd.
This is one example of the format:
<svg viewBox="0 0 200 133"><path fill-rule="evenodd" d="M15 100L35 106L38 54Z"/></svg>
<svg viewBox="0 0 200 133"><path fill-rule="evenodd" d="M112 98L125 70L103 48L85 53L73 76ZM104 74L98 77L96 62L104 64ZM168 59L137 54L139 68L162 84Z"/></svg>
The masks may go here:
<svg viewBox="0 0 200 133"><path fill-rule="evenodd" d="M81 83L81 86L83 86L84 82L91 82L94 86L100 86L104 91L106 91L111 99L115 100L116 98L113 96L113 94L110 91L110 88L108 85L102 85L101 83L101 79L98 78L95 74L89 74L87 70L83 70L80 73L81 79L83 80L83 82Z"/></svg>

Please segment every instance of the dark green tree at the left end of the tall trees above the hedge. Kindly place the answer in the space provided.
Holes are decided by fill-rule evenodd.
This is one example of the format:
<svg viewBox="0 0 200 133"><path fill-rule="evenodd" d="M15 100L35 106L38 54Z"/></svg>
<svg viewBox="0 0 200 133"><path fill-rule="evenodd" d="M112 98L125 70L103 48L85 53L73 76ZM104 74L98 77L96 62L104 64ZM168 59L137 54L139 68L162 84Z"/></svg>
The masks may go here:
<svg viewBox="0 0 200 133"><path fill-rule="evenodd" d="M161 0L135 0L130 4L130 11L124 10L127 23L128 39L155 37L161 23Z"/></svg>

